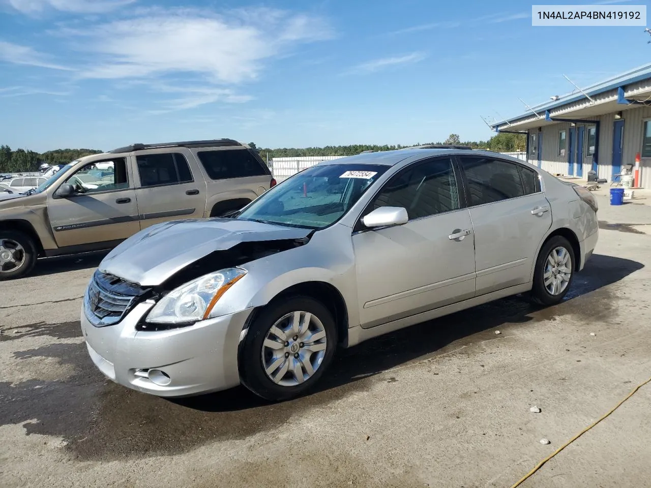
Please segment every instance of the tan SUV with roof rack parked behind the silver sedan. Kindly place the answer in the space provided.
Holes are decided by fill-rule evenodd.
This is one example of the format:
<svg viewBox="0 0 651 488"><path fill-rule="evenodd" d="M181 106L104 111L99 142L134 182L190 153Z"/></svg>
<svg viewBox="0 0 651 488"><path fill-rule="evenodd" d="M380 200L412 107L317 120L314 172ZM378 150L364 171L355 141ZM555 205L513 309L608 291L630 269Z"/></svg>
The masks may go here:
<svg viewBox="0 0 651 488"><path fill-rule="evenodd" d="M273 185L257 152L232 139L82 157L0 201L0 280L26 275L39 257L111 249L152 224L232 213Z"/></svg>

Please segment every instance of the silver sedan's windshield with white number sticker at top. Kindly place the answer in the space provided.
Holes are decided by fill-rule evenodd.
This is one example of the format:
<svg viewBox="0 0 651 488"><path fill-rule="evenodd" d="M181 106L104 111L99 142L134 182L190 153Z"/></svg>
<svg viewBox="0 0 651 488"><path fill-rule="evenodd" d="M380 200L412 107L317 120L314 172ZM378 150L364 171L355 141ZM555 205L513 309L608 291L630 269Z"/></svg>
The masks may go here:
<svg viewBox="0 0 651 488"><path fill-rule="evenodd" d="M236 218L320 229L338 221L381 174L384 165L317 165L255 200Z"/></svg>

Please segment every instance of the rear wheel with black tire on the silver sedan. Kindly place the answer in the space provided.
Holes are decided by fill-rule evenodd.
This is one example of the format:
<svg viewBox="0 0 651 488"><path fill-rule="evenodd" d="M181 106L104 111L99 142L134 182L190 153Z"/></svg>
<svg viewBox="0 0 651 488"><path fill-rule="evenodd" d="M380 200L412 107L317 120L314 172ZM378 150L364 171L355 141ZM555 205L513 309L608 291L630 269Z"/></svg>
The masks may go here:
<svg viewBox="0 0 651 488"><path fill-rule="evenodd" d="M555 256L558 256L559 260ZM552 261L555 262L555 265L552 265ZM575 256L570 241L562 236L551 237L540 249L538 259L536 259L533 287L531 288L532 301L546 306L561 303L572 286L574 270ZM554 292L554 290L556 291Z"/></svg>

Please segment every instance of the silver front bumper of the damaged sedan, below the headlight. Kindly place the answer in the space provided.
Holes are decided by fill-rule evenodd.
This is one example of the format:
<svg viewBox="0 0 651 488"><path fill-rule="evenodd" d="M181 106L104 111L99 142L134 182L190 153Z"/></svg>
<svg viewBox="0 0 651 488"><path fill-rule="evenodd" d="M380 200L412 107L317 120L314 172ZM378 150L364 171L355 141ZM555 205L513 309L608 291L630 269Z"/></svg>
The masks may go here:
<svg viewBox="0 0 651 488"><path fill-rule="evenodd" d="M238 345L252 308L166 331L139 331L153 303L136 305L114 325L95 327L81 310L89 355L107 377L165 397L191 396L240 384Z"/></svg>

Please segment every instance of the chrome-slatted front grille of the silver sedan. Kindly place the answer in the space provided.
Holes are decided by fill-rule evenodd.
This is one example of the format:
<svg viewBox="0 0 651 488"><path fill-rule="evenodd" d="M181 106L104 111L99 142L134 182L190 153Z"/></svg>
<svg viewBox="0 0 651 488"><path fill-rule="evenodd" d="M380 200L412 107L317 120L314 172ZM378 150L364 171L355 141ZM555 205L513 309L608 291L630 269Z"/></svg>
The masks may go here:
<svg viewBox="0 0 651 488"><path fill-rule="evenodd" d="M120 278L96 271L84 297L86 316L96 327L118 323L145 291Z"/></svg>

